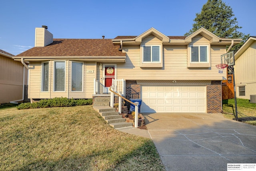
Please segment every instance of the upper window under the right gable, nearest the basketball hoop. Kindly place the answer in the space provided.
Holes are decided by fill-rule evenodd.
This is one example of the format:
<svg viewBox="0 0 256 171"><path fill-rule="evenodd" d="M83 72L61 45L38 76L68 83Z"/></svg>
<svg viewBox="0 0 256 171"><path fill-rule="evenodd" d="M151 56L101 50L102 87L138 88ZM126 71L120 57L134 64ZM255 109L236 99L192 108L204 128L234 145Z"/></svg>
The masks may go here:
<svg viewBox="0 0 256 171"><path fill-rule="evenodd" d="M208 46L191 46L191 62L208 62Z"/></svg>

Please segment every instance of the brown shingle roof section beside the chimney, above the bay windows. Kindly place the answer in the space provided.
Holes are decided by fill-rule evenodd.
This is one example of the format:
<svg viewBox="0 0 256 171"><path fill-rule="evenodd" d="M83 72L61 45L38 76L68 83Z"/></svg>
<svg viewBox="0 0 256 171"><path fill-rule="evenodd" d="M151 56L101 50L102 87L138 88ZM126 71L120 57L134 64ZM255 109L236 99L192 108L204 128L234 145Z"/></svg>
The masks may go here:
<svg viewBox="0 0 256 171"><path fill-rule="evenodd" d="M53 39L44 47L34 47L18 56L125 56L111 39Z"/></svg>

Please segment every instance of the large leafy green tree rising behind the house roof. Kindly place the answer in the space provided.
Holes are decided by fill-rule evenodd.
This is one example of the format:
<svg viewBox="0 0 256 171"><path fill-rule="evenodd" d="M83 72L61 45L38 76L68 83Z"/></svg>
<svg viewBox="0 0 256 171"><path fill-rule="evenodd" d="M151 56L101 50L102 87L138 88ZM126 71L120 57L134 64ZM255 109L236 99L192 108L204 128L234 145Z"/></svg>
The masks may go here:
<svg viewBox="0 0 256 171"><path fill-rule="evenodd" d="M243 40L240 44L232 47L231 51L233 50L234 52L250 36L250 34L245 35L238 31L242 27L238 26L232 8L227 6L222 0L208 0L203 5L201 13L196 13L196 18L193 21L193 28L185 36L203 27L220 38L242 38Z"/></svg>

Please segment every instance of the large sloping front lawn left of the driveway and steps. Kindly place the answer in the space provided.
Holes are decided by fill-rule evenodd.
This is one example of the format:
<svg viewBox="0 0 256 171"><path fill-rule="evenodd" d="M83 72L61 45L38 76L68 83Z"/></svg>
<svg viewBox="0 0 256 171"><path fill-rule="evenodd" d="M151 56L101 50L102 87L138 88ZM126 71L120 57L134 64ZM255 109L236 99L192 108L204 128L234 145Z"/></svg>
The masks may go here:
<svg viewBox="0 0 256 171"><path fill-rule="evenodd" d="M0 170L164 170L151 139L110 127L91 105L0 109Z"/></svg>

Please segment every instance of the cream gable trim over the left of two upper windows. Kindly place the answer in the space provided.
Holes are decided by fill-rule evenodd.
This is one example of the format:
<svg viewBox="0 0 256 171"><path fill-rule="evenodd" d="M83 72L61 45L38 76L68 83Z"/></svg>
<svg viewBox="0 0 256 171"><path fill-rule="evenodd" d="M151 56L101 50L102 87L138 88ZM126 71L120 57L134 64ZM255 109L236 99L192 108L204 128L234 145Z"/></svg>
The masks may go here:
<svg viewBox="0 0 256 171"><path fill-rule="evenodd" d="M169 42L169 40L170 40L167 36L165 36L164 34L159 32L158 30L156 30L154 28L150 28L146 32L140 34L140 36L137 36L135 38L135 42L142 42L142 39L149 36L150 34L153 34L154 36L156 36L156 38L158 38L162 42Z"/></svg>

